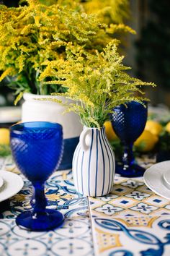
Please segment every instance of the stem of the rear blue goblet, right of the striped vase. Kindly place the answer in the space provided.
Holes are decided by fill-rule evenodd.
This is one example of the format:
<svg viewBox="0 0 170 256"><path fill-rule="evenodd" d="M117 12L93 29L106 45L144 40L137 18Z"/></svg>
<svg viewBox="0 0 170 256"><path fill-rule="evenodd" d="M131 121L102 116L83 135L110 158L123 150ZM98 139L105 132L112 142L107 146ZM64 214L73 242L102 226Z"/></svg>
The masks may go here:
<svg viewBox="0 0 170 256"><path fill-rule="evenodd" d="M133 155L133 143L124 143L124 153L122 156L123 165L125 166L125 168L128 168L133 165L134 161L135 158Z"/></svg>

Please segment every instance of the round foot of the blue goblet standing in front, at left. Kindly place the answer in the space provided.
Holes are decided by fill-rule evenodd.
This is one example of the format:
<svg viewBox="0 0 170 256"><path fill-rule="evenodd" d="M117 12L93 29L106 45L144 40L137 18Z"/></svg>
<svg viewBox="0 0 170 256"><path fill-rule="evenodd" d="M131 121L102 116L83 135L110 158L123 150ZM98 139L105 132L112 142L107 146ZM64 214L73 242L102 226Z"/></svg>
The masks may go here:
<svg viewBox="0 0 170 256"><path fill-rule="evenodd" d="M33 216L32 211L28 210L19 214L16 218L18 226L30 231L48 231L62 225L64 216L58 210L46 209L45 214Z"/></svg>

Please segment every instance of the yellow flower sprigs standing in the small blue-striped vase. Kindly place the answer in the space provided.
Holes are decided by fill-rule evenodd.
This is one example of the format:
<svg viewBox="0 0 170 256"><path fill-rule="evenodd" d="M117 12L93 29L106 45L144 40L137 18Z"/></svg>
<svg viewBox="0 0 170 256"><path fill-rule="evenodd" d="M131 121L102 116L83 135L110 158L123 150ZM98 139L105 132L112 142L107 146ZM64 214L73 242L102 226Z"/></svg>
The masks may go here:
<svg viewBox="0 0 170 256"><path fill-rule="evenodd" d="M143 103L146 98L134 96L134 93L143 95L141 86L155 86L152 82L142 82L127 74L126 71L130 67L122 64L123 56L118 54L114 40L104 51L96 51L95 54L87 52L81 46L77 47L76 51L70 46L67 51L66 60L45 63L47 67L40 79L58 78L53 82L66 88L63 95L75 101L68 103L68 106L63 104L67 106L67 111L79 114L82 124L86 127L102 127L112 109L121 103ZM51 100L56 101L54 98Z"/></svg>

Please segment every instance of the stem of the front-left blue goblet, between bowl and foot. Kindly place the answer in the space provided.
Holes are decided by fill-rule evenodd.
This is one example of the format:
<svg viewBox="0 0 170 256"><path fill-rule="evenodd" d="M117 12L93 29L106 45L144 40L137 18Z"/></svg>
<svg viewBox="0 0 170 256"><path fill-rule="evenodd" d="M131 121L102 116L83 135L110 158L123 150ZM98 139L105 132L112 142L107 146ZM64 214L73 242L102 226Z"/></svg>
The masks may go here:
<svg viewBox="0 0 170 256"><path fill-rule="evenodd" d="M33 186L35 188L35 205L33 214L37 216L38 214L40 215L45 213L47 199L45 197L44 183L36 182Z"/></svg>

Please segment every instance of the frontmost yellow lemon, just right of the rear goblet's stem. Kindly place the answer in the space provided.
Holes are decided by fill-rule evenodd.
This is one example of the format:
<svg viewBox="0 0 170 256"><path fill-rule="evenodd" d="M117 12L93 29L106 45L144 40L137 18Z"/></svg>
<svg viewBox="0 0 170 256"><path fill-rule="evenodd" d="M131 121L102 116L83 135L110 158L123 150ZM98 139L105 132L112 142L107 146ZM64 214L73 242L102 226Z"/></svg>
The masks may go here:
<svg viewBox="0 0 170 256"><path fill-rule="evenodd" d="M135 141L134 145L140 152L148 152L153 150L156 142L158 142L158 136L144 130L140 137L138 137L138 140Z"/></svg>

